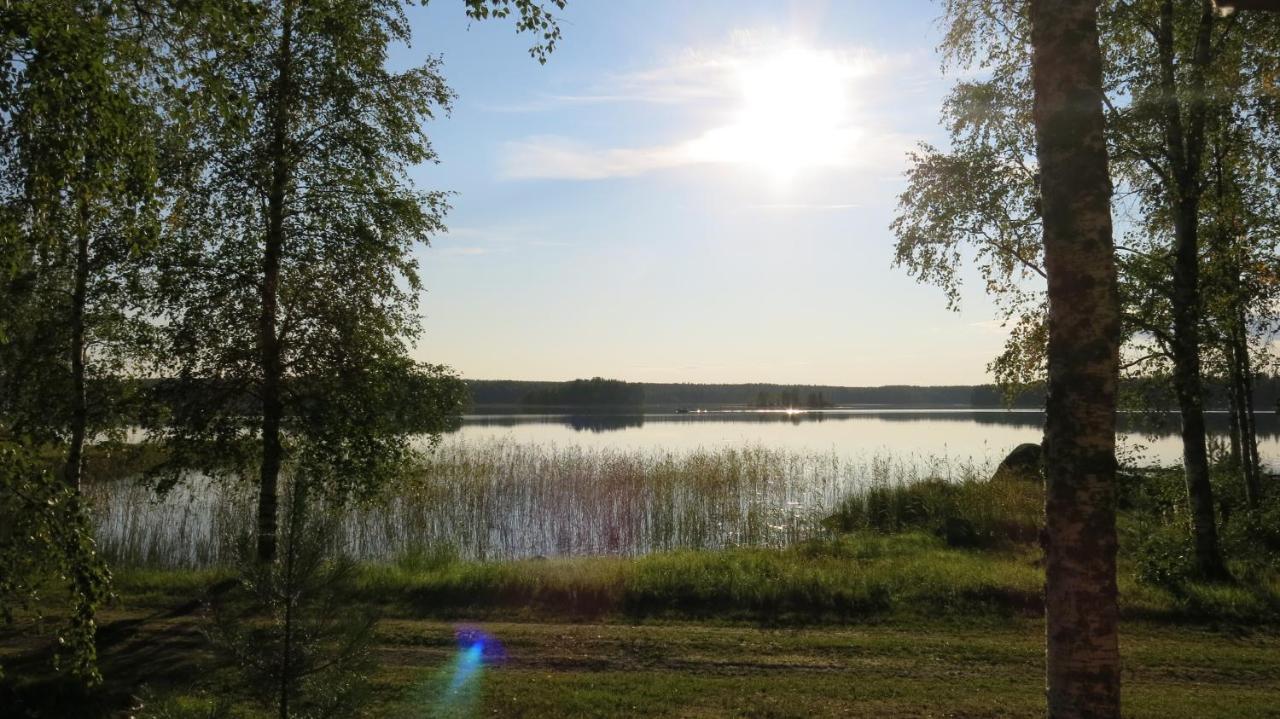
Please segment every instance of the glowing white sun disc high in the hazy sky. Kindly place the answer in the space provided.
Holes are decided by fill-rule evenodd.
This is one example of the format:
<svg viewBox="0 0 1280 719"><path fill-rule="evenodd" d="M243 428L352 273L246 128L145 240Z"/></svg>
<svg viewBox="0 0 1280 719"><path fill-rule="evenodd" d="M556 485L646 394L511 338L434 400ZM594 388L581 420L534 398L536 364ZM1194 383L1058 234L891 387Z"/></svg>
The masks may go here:
<svg viewBox="0 0 1280 719"><path fill-rule="evenodd" d="M742 61L735 119L696 141L709 161L753 165L777 179L835 164L852 150L849 79L854 68L831 52L788 47Z"/></svg>

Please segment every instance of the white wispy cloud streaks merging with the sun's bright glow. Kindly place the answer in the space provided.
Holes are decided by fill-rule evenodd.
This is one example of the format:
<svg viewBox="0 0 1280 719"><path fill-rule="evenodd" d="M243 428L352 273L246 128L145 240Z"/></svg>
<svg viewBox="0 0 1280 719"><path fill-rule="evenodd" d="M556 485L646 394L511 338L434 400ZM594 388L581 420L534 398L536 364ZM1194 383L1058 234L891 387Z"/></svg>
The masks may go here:
<svg viewBox="0 0 1280 719"><path fill-rule="evenodd" d="M858 104L850 97L858 95L852 91L858 83L900 75L904 63L914 59L735 33L726 46L686 50L657 68L608 75L581 93L547 96L520 107L631 102L666 105L672 113L713 109L727 122L660 143L525 137L503 146L499 174L596 180L704 164L754 164L776 174L803 168L896 170L910 143L851 113Z"/></svg>

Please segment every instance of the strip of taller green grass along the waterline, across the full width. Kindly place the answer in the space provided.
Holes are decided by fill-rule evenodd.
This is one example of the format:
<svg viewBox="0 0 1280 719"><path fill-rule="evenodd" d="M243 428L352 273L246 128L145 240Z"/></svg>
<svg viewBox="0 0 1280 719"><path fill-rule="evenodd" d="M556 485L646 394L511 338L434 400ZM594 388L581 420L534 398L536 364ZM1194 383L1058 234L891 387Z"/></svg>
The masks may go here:
<svg viewBox="0 0 1280 719"><path fill-rule="evenodd" d="M128 606L160 608L232 578L228 569L124 569ZM964 549L924 532L860 532L783 549L673 551L461 562L411 555L360 565L348 597L393 615L524 620L677 619L822 624L952 617L984 622L1041 613L1043 571L1034 546ZM1175 589L1120 565L1120 606L1152 622L1280 622L1280 577Z"/></svg>

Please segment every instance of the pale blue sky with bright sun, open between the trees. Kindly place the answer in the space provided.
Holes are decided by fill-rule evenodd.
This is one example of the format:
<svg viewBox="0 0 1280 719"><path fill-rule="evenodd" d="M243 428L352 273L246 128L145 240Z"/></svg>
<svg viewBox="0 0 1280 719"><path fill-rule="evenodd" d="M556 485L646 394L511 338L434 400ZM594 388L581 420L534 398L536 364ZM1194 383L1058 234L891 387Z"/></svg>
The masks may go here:
<svg viewBox="0 0 1280 719"><path fill-rule="evenodd" d="M420 251L419 360L468 379L975 384L1005 330L893 267L906 152L945 146L929 1L570 0L545 65L461 0L428 128L453 192Z"/></svg>

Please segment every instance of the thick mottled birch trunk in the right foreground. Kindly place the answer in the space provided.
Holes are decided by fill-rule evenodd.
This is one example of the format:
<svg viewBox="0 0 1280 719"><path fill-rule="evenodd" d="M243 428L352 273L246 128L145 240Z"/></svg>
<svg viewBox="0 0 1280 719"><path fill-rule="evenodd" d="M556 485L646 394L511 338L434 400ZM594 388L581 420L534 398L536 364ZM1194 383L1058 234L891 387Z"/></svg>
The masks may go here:
<svg viewBox="0 0 1280 719"><path fill-rule="evenodd" d="M1044 615L1048 715L1120 715L1115 422L1120 301L1096 0L1033 0L1048 276Z"/></svg>

